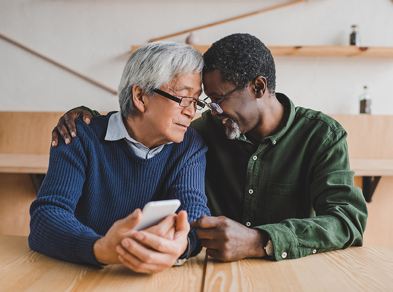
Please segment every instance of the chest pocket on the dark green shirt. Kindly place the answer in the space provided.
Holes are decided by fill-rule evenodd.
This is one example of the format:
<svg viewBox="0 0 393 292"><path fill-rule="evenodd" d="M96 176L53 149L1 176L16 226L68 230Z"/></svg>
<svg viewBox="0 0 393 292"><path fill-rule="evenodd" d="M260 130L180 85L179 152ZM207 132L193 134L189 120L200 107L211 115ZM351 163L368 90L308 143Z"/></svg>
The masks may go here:
<svg viewBox="0 0 393 292"><path fill-rule="evenodd" d="M279 223L289 218L304 217L304 189L300 182L268 183L264 198L265 223Z"/></svg>

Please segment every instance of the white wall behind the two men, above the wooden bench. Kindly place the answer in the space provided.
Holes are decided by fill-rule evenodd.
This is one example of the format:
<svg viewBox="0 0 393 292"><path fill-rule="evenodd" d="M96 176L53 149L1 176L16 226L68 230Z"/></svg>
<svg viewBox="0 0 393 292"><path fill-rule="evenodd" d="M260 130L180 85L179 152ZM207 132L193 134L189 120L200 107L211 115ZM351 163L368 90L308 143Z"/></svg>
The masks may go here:
<svg viewBox="0 0 393 292"><path fill-rule="evenodd" d="M0 0L0 32L117 88L131 45L290 0ZM392 0L309 0L196 31L200 44L248 32L267 46L393 47ZM187 35L169 38L184 41ZM356 114L364 85L373 113L393 115L393 58L276 57L277 91L295 105ZM115 95L0 39L0 111L117 110Z"/></svg>

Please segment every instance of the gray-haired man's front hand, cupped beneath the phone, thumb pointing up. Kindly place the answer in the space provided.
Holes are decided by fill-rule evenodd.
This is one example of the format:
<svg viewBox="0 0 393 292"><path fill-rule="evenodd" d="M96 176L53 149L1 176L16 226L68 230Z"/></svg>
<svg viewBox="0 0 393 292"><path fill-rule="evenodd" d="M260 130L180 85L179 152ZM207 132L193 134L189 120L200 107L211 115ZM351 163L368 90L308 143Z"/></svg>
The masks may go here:
<svg viewBox="0 0 393 292"><path fill-rule="evenodd" d="M176 218L173 238L165 238L160 236L162 234L152 234L147 230L135 232L131 238L124 238L121 246L117 246L118 259L136 272L160 272L172 266L184 253L189 232L187 212L182 210Z"/></svg>

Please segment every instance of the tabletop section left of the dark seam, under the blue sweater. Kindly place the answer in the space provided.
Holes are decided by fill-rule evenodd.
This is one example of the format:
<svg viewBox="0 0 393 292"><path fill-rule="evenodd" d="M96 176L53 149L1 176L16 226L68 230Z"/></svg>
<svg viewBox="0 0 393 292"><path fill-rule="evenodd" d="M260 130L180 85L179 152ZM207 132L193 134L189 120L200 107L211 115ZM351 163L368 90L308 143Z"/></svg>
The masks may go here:
<svg viewBox="0 0 393 292"><path fill-rule="evenodd" d="M201 291L204 253L154 274L123 265L96 267L47 257L28 247L27 236L0 235L0 292Z"/></svg>

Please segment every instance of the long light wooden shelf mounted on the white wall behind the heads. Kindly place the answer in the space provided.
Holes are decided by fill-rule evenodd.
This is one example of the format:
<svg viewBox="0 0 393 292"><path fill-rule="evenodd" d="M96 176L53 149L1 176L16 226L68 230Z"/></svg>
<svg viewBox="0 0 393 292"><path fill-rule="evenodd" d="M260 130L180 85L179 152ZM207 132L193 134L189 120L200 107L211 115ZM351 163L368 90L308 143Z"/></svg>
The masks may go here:
<svg viewBox="0 0 393 292"><path fill-rule="evenodd" d="M131 52L139 47L132 46ZM203 54L210 46L194 47ZM390 47L268 46L268 48L273 56L393 58L393 48Z"/></svg>

